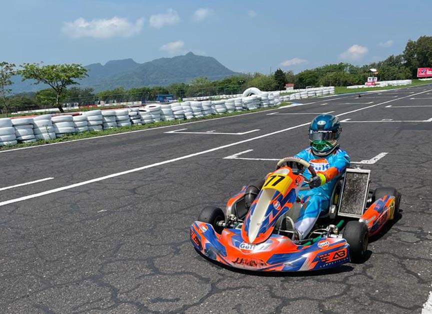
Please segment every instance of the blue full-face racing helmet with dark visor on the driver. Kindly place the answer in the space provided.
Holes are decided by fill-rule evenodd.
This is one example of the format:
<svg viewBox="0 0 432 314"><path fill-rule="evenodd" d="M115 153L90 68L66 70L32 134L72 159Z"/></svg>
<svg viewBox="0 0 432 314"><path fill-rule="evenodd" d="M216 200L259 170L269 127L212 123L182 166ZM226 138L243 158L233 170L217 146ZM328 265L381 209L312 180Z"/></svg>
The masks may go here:
<svg viewBox="0 0 432 314"><path fill-rule="evenodd" d="M330 154L337 145L342 128L339 119L330 114L320 114L309 126L309 142L313 153L318 156Z"/></svg>

